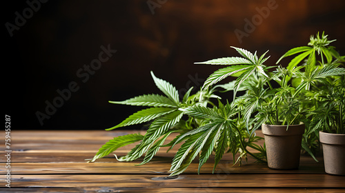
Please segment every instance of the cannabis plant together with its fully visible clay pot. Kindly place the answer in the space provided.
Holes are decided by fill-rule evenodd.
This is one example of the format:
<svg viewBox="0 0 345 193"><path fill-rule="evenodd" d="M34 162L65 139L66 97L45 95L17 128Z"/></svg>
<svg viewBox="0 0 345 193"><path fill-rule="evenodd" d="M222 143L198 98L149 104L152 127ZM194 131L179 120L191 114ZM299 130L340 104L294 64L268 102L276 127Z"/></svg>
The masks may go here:
<svg viewBox="0 0 345 193"><path fill-rule="evenodd" d="M257 57L256 52L253 54L242 48L232 48L243 58L228 57L201 62L230 65L211 74L203 88L208 88L228 76L237 76L234 97L236 97L239 86L244 84L247 89L246 94L239 96L246 103L244 119L248 125L250 117L256 113L254 130L262 126L268 167L274 169L297 168L304 133L304 124L300 123L304 118L304 110L299 108L299 101L294 97L295 89L287 83L287 77L294 71L278 66L274 72L268 72L271 67L264 65L268 59L268 57L264 57L266 53ZM248 81L249 77L255 77L258 81ZM279 88L273 88L271 81L275 81Z"/></svg>

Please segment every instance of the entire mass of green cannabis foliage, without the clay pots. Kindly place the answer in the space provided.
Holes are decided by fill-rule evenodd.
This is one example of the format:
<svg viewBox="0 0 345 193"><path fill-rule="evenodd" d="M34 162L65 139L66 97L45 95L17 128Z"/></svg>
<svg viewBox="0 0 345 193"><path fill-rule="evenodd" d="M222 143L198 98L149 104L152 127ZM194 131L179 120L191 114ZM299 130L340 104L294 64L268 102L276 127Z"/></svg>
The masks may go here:
<svg viewBox="0 0 345 193"><path fill-rule="evenodd" d="M333 41L329 41L324 33L321 37L319 34L311 36L308 46L292 48L277 61L278 64L282 59L297 54L287 68L264 65L269 59L265 57L268 51L257 57L257 52L253 54L231 47L242 57L198 62L230 66L216 70L199 92L192 94L193 88L190 88L182 98L172 84L151 72L155 85L164 95L144 94L125 101L109 101L148 108L135 112L107 130L150 123L146 134L128 134L111 139L99 149L92 161L124 145L139 142L126 156L115 157L119 161L134 161L145 155L139 164L142 165L148 163L159 148L168 147L169 151L180 143L172 160L170 176L184 172L197 157L200 173L211 155L215 159L214 172L225 153L233 154L234 164L241 165L248 155L266 162L265 145L257 145L262 138L255 135L262 123L292 125L300 122L306 125L302 148L315 159L313 154L318 148L319 130L345 133L345 69L342 67L345 59L329 45ZM275 69L272 71L271 68ZM217 85L229 76L237 78ZM215 94L217 89L219 92L233 92L233 101L221 103ZM237 92L244 94L237 96ZM217 105L213 99L218 99ZM173 133L177 136L165 143Z"/></svg>

